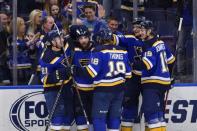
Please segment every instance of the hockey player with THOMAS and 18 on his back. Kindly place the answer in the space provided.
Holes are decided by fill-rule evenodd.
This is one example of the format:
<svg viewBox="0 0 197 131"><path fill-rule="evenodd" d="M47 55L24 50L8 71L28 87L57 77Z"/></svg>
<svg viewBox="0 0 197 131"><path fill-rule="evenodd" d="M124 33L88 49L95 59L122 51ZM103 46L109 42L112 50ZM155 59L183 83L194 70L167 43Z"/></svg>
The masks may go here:
<svg viewBox="0 0 197 131"><path fill-rule="evenodd" d="M85 67L94 80L92 121L94 131L119 131L124 83L131 78L127 51L112 45L112 33L100 31L95 37L97 46Z"/></svg>

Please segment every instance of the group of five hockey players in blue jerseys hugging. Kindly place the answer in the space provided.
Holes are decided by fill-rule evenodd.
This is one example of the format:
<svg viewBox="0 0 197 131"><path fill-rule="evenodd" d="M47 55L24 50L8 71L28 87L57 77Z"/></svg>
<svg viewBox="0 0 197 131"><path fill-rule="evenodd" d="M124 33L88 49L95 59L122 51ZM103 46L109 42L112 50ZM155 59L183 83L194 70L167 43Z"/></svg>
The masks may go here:
<svg viewBox="0 0 197 131"><path fill-rule="evenodd" d="M132 131L144 114L146 131L166 131L164 97L175 57L151 21L136 19L132 35L106 29L91 38L84 25L72 25L66 38L56 30L47 35L39 63L49 113L64 84L51 130L68 131L75 121L78 131L88 124L94 131Z"/></svg>

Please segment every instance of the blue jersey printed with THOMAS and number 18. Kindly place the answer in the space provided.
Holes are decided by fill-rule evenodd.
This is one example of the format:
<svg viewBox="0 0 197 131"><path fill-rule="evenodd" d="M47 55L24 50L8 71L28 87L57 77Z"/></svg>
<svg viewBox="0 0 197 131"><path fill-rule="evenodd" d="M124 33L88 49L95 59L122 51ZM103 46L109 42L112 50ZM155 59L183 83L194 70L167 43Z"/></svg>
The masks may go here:
<svg viewBox="0 0 197 131"><path fill-rule="evenodd" d="M95 87L114 87L131 78L127 51L114 45L98 46L85 69L93 78Z"/></svg>

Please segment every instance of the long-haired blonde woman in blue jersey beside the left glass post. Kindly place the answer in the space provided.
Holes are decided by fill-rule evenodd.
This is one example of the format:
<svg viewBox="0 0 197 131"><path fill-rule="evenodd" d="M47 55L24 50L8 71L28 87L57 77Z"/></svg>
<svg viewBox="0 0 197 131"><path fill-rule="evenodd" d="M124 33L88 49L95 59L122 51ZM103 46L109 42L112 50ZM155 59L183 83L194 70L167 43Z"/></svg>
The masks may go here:
<svg viewBox="0 0 197 131"><path fill-rule="evenodd" d="M11 24L12 25L12 24ZM12 26L10 26L12 32ZM25 21L23 18L17 18L17 71L18 80L20 84L27 84L31 75L31 60L29 57L30 46L33 41L25 39ZM13 47L10 46L9 64L10 68L13 68Z"/></svg>

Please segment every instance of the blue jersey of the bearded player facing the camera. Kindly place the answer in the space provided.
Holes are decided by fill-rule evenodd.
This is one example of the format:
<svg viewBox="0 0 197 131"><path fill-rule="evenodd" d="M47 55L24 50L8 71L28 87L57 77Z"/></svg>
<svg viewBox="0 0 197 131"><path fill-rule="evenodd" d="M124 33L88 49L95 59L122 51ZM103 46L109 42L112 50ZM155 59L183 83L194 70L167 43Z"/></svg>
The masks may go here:
<svg viewBox="0 0 197 131"><path fill-rule="evenodd" d="M74 56L72 60L72 64L78 67L87 66L90 62L91 51L87 50L84 51L81 48L75 47L74 48ZM89 77L84 77L81 72L76 72L74 74L74 80L76 86L83 91L93 90L93 79Z"/></svg>

